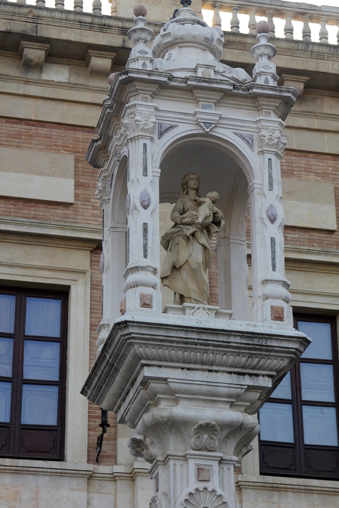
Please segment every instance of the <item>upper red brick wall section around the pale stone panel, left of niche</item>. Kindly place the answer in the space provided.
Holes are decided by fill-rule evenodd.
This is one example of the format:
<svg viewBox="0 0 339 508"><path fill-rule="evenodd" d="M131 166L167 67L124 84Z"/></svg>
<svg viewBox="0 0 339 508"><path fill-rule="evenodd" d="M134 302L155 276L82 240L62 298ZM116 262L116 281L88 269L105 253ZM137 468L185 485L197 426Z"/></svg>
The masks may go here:
<svg viewBox="0 0 339 508"><path fill-rule="evenodd" d="M95 136L96 132L91 129L0 118L0 146L50 150L75 157L74 204L2 198L0 215L101 225L101 209L95 196L98 170L89 166L84 158Z"/></svg>

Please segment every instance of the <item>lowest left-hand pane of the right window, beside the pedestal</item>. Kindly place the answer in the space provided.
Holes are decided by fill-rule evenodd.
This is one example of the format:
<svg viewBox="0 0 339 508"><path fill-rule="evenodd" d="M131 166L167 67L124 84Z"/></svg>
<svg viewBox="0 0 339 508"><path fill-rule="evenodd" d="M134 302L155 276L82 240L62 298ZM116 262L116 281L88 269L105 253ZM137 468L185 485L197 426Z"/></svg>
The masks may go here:
<svg viewBox="0 0 339 508"><path fill-rule="evenodd" d="M260 439L294 442L292 404L266 402L260 409Z"/></svg>

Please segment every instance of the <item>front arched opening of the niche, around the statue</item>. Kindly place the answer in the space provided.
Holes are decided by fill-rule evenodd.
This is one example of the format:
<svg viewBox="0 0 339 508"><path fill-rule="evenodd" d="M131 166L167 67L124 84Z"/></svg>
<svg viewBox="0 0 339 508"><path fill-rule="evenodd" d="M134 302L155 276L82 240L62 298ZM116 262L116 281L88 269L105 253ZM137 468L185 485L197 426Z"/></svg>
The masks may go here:
<svg viewBox="0 0 339 508"><path fill-rule="evenodd" d="M247 320L248 267L246 264L245 219L248 181L231 156L230 149L206 139L187 139L170 149L160 165L160 235L173 226L170 213L180 197L181 180L186 173L197 173L203 196L211 191L220 195L215 204L224 214L225 227L211 241L208 270L211 303L233 310L234 318ZM160 263L165 250L161 247ZM162 286L162 303L173 303L173 293Z"/></svg>

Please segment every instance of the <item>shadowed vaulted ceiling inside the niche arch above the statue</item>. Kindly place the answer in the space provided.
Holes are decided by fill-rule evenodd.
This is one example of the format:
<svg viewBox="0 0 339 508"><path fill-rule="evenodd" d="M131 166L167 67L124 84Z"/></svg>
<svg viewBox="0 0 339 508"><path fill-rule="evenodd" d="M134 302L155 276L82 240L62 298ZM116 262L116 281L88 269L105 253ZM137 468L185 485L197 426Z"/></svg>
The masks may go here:
<svg viewBox="0 0 339 508"><path fill-rule="evenodd" d="M208 140L183 140L164 156L160 168L160 203L175 203L180 197L183 175L197 173L203 196L211 190L220 195L216 206L225 215L226 234L233 229L234 213L241 215L236 223L244 225L248 182L228 148Z"/></svg>

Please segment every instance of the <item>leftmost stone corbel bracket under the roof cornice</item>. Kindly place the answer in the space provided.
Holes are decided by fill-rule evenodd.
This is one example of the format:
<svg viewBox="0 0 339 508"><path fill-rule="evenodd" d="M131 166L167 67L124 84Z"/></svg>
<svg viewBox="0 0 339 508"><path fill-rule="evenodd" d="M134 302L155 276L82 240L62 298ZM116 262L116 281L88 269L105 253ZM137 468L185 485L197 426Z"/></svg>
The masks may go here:
<svg viewBox="0 0 339 508"><path fill-rule="evenodd" d="M23 78L41 78L48 50L49 44L20 41L19 56L21 57L21 76Z"/></svg>

